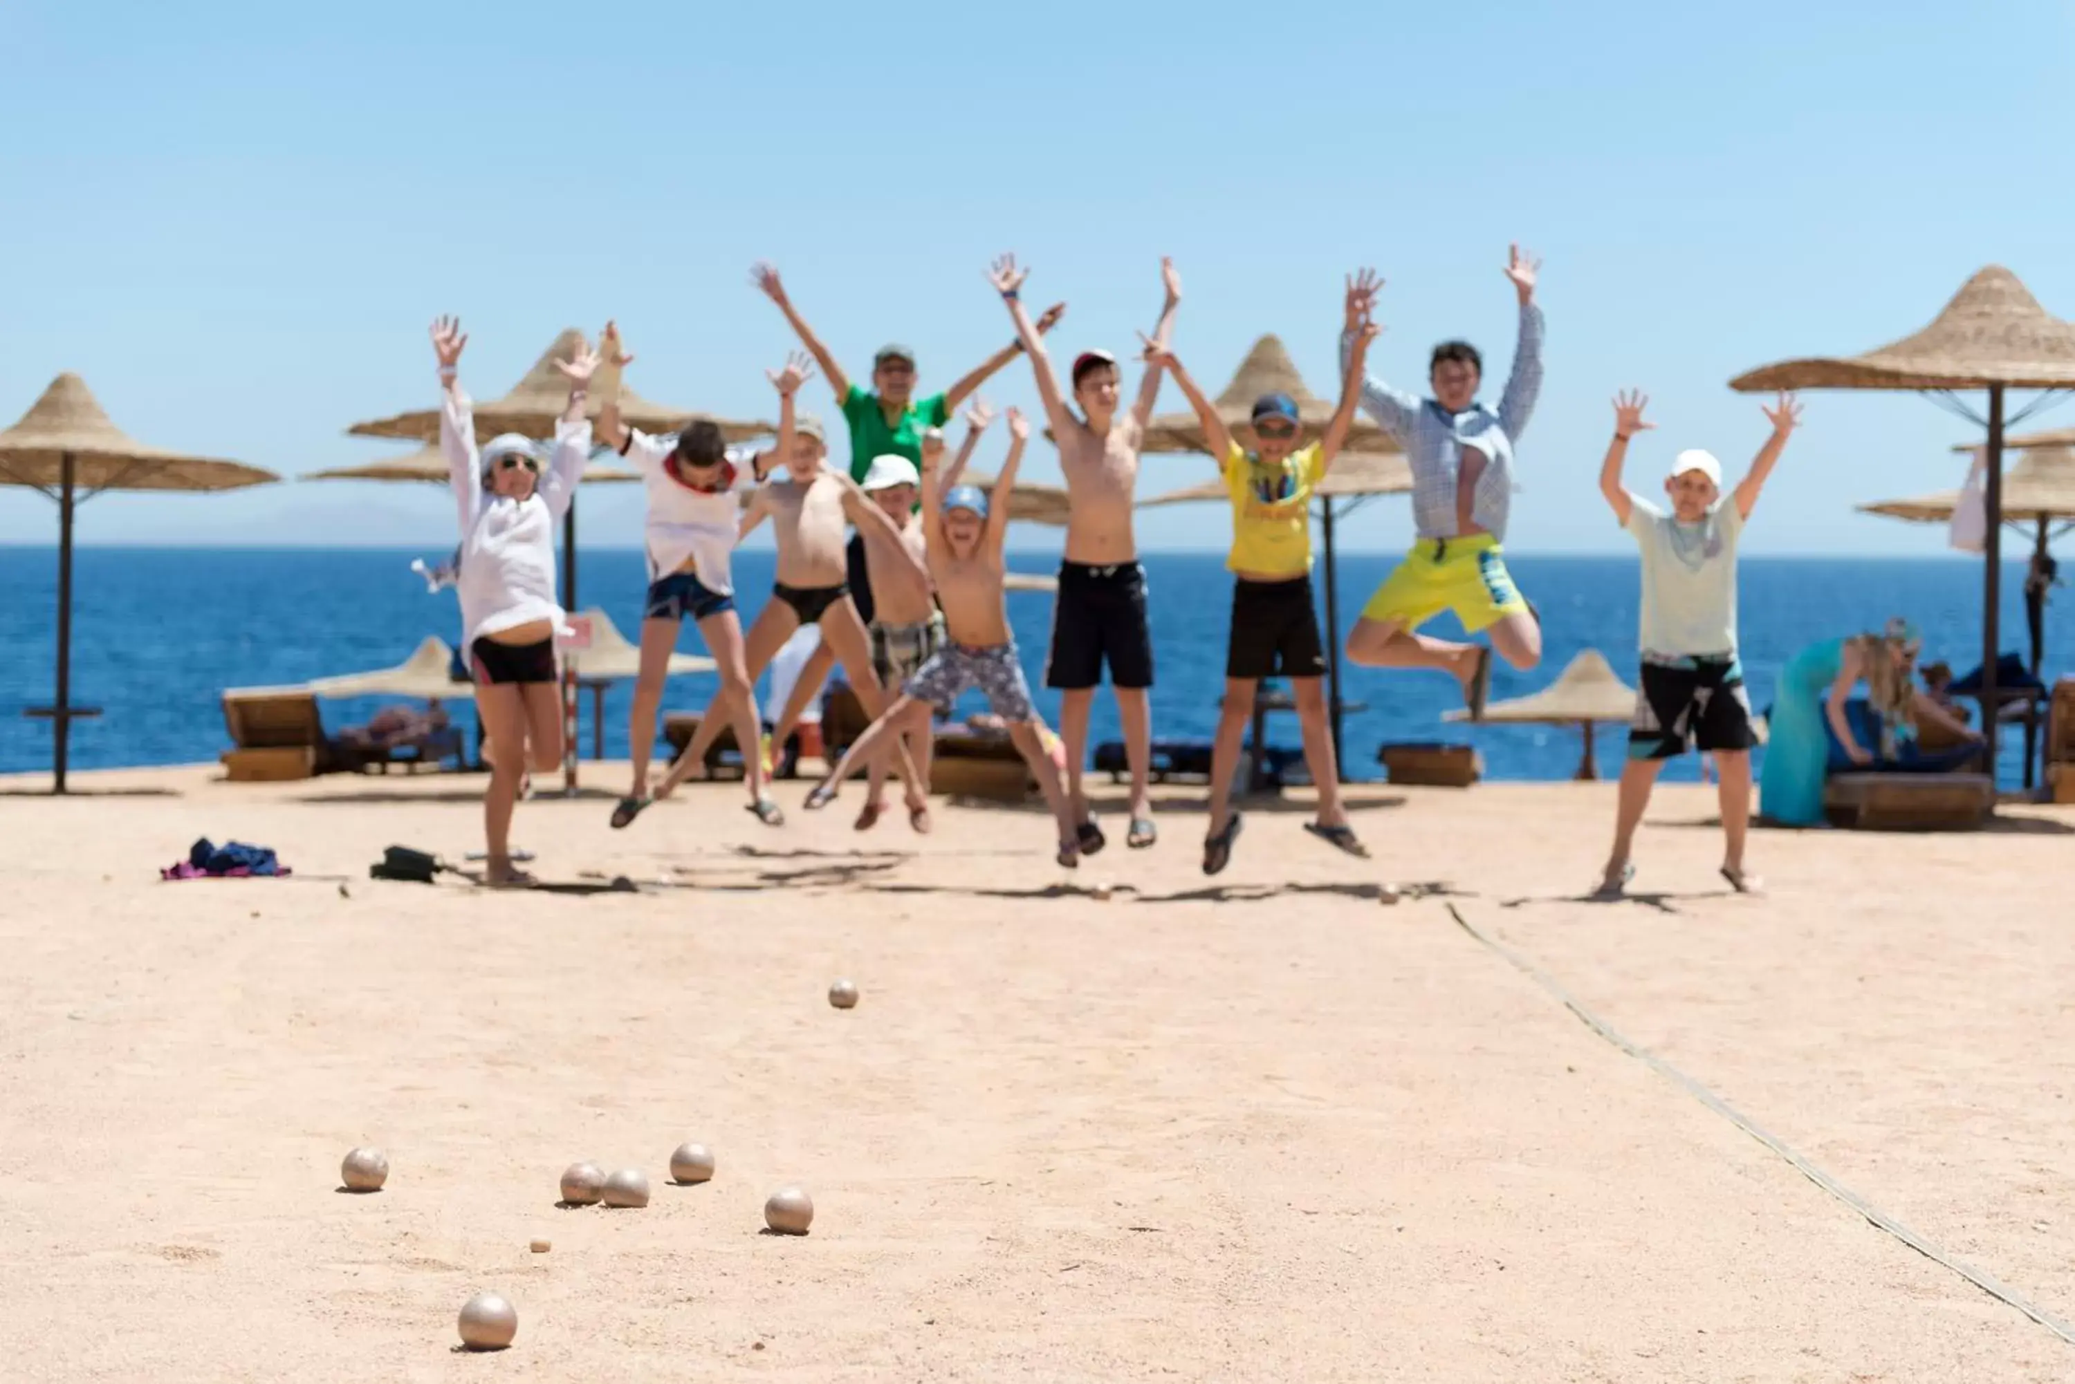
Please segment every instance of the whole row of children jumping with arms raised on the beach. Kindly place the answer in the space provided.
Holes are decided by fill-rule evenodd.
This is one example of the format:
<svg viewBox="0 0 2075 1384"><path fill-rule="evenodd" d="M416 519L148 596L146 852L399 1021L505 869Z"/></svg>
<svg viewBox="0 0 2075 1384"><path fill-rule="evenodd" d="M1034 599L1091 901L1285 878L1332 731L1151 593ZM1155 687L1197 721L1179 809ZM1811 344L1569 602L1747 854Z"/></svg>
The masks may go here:
<svg viewBox="0 0 2075 1384"><path fill-rule="evenodd" d="M1538 268L1517 247L1504 268L1519 299L1519 344L1496 407L1479 403L1484 361L1475 347L1461 340L1434 347L1430 394L1423 398L1370 378L1365 365L1380 330L1376 299L1382 280L1370 270L1349 276L1338 407L1309 440L1307 419L1289 394L1264 394L1245 423L1224 419L1204 394L1172 347L1181 278L1170 261L1160 266L1160 317L1152 334L1139 334L1145 367L1129 407L1120 361L1108 351L1077 355L1067 392L1060 392L1046 334L1064 315L1064 303L1033 320L1023 303L1029 270L1013 255L992 266L988 282L1008 313L1015 338L948 390L928 396L915 392L915 351L903 344L878 351L872 388L861 388L801 317L778 270L757 266L757 288L776 303L805 347L780 369L766 371L778 392L778 434L762 450L728 446L710 419L693 419L674 436L629 427L618 394L633 355L610 322L596 349L585 344L573 359L558 361L569 378L569 407L552 444L506 434L477 448L469 398L457 380L467 336L459 322L438 320L432 340L444 386L440 442L452 471L463 535L457 581L463 647L477 683L492 768L486 880L496 886L531 884L513 865L508 834L527 764L548 770L562 757L554 643L562 610L554 598L554 523L598 446L620 452L641 471L647 488L649 587L629 726L633 782L614 805L614 828L633 824L652 801L703 772L706 751L722 728L732 730L743 747L747 809L766 826L784 824L770 795L770 764L759 751L766 739L755 681L799 627L815 625L820 647L772 739L784 745L832 664L842 666L872 724L813 786L807 809L826 807L840 784L863 768L867 788L859 830L884 815L886 778L898 776L909 824L928 832L932 718L948 716L965 691L977 689L1044 793L1056 826L1058 863L1073 867L1108 845L1083 780L1089 710L1108 670L1131 772L1125 842L1131 849L1152 847L1158 840L1147 708L1154 649L1133 515L1139 450L1162 376L1168 373L1195 411L1233 513L1226 560L1233 573L1230 635L1212 751L1204 871L1220 874L1241 834L1243 818L1233 807L1230 786L1260 683L1272 676L1291 683L1305 764L1318 784L1318 813L1305 828L1349 855L1365 857L1367 849L1340 799L1322 691L1326 658L1311 600L1311 498L1332 471L1357 409L1403 446L1413 477L1417 539L1363 606L1347 639L1347 658L1363 666L1448 672L1461 683L1471 718L1482 718L1494 654L1515 668L1533 668L1542 660L1540 616L1504 562L1513 450L1542 384L1542 309L1533 301ZM1046 687L1060 693L1062 764L1048 753L1050 732L1031 703L1004 602L1002 542L1031 421L1008 409L1011 442L998 475L986 490L961 483L992 421L977 390L1019 355L1029 357L1069 496L1044 674ZM849 469L828 465L822 421L799 409L799 390L815 373L834 390L849 427ZM965 413L967 436L957 456L946 459L944 427L967 400L973 400ZM1712 454L1679 452L1664 479L1670 508L1660 510L1621 481L1629 440L1652 427L1643 421L1643 403L1639 394L1616 400L1614 440L1600 475L1608 504L1643 554L1641 695L1602 890L1619 892L1633 876L1629 845L1658 768L1695 747L1712 753L1720 770L1722 876L1747 890L1755 888L1755 878L1743 867L1753 728L1737 662L1735 550L1743 521L1799 419L1799 407L1782 396L1766 411L1772 436L1728 498L1722 496L1722 471ZM587 421L593 411L596 430ZM730 560L766 521L778 548L776 583L772 600L745 631ZM1488 643L1421 635L1419 629L1444 610L1465 633L1484 635ZM687 616L714 658L720 691L699 718L691 745L660 782L652 782L664 679Z"/></svg>

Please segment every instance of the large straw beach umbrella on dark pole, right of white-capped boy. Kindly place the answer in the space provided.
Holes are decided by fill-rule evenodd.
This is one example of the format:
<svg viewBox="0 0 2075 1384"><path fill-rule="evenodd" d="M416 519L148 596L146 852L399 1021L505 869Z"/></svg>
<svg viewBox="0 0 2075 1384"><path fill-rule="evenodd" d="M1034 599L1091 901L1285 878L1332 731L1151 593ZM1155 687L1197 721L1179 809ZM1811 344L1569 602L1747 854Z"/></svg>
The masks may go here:
<svg viewBox="0 0 2075 1384"><path fill-rule="evenodd" d="M2054 317L2002 266L1969 278L1944 311L1913 336L1853 357L1805 357L1764 365L1728 382L1735 390L1915 390L1928 392L1988 430L1982 564L1982 726L1996 762L1996 658L2002 583L2002 450L2007 423L2029 417L2052 394L2004 417L2007 390L2075 388L2075 324ZM1988 390L1988 415L1977 417L1955 390Z"/></svg>

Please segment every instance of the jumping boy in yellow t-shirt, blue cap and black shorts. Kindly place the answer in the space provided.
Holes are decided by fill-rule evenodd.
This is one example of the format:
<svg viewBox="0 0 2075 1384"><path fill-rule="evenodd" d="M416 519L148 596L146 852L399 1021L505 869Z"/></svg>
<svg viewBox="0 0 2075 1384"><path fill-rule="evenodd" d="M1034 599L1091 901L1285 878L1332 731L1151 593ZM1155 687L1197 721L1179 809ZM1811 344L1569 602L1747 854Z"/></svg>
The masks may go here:
<svg viewBox="0 0 2075 1384"><path fill-rule="evenodd" d="M1303 757L1318 784L1318 820L1305 830L1349 855L1367 855L1347 824L1340 803L1340 766L1332 753L1326 722L1326 693L1320 676L1326 654L1311 606L1311 492L1326 479L1332 459L1347 440L1361 398L1361 363L1376 326L1365 324L1353 342L1340 407L1326 423L1326 436L1297 446L1303 421L1289 394L1264 394L1253 405L1249 432L1253 450L1243 448L1233 430L1206 398L1172 351L1147 342L1147 359L1160 359L1174 384L1189 396L1204 442L1218 456L1224 488L1233 500L1233 633L1224 652L1224 710L1210 757L1210 832L1204 836L1204 874L1218 874L1233 859L1241 818L1233 811L1233 776L1239 749L1253 720L1253 697L1262 679L1286 676L1303 726Z"/></svg>

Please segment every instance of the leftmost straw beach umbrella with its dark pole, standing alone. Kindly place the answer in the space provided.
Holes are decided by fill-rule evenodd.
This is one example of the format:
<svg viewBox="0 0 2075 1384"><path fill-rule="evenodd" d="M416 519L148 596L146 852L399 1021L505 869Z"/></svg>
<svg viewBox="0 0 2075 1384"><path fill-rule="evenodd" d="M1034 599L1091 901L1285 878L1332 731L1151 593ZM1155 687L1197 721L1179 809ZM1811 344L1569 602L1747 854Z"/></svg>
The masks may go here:
<svg viewBox="0 0 2075 1384"><path fill-rule="evenodd" d="M64 793L73 720L100 708L73 705L73 513L106 490L239 490L280 479L234 461L208 461L129 438L85 380L50 382L21 421L0 432L0 486L29 486L58 502L58 687L52 705L29 708L54 737L52 780Z"/></svg>

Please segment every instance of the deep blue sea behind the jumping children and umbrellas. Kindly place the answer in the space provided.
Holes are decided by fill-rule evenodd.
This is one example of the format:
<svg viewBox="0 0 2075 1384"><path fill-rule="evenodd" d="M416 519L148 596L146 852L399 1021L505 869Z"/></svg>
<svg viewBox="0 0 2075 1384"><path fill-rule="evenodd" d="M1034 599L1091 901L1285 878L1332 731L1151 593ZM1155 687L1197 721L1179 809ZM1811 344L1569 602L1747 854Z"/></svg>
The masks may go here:
<svg viewBox="0 0 2075 1384"><path fill-rule="evenodd" d="M454 643L454 593L427 596L409 571L411 558L444 552L382 550L139 550L85 548L75 558L73 697L104 708L79 722L73 764L79 768L191 764L226 747L218 693L224 687L301 683L400 662L419 639ZM1392 564L1388 554L1340 556L1340 627L1353 625L1361 602ZM1533 691L1585 647L1604 652L1633 683L1637 577L1633 556L1511 558L1519 585L1542 608L1548 654L1540 670L1517 674L1500 664L1494 699ZM1050 571L1042 554L1017 554L1011 566ZM1224 631L1230 583L1218 554L1154 554L1152 583L1158 687L1154 732L1208 737L1218 716L1224 676ZM770 589L772 554L737 556L737 587L745 614ZM579 604L604 606L633 637L641 618L643 560L633 550L587 550L579 562ZM2023 647L2021 569L2004 575L2004 647ZM1816 639L1874 629L1907 614L1926 631L1926 658L1955 670L1980 662L1977 562L1745 558L1741 622L1743 658L1753 699L1764 705L1780 664ZM50 728L21 718L21 708L52 697L56 641L56 552L0 548L0 772L50 764ZM1008 598L1023 666L1038 687L1052 598ZM1320 602L1324 610L1324 598ZM2075 620L2048 610L2048 674L2075 668ZM1448 625L1444 620L1444 625ZM1436 631L1442 633L1442 631ZM1453 633L1453 631L1450 631ZM687 625L683 645L701 652ZM695 710L712 679L670 685L666 708ZM1544 728L1448 726L1440 714L1461 697L1448 679L1417 672L1351 668L1347 693L1367 710L1347 722L1347 768L1374 776L1382 741L1471 741L1484 749L1492 778L1567 778L1577 768L1577 732ZM606 697L606 753L627 753L629 689ZM1044 714L1056 722L1058 697L1040 689ZM1114 739L1116 718L1098 697L1098 737ZM326 724L365 720L376 703L326 703ZM583 751L591 747L591 701L583 699ZM1274 718L1270 739L1295 745L1293 718ZM1619 772L1619 735L1600 737L1600 762ZM2015 782L2017 737L2007 737L2004 776ZM1687 762L1675 770L1693 776Z"/></svg>

